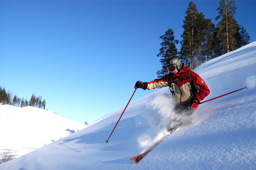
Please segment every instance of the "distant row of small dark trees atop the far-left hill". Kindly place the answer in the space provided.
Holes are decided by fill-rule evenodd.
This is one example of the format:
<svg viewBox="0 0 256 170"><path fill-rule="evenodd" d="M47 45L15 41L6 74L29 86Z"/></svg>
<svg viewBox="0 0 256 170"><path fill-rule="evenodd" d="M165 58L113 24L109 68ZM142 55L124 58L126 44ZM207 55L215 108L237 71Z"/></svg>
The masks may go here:
<svg viewBox="0 0 256 170"><path fill-rule="evenodd" d="M26 107L26 106L33 106L37 108L45 109L46 101L43 99L42 96L35 96L35 94L32 94L30 100L27 99L24 100L23 98L19 98L16 94L12 98L12 92L10 90L6 91L5 87L2 88L0 86L0 103L2 105L9 104L16 107Z"/></svg>

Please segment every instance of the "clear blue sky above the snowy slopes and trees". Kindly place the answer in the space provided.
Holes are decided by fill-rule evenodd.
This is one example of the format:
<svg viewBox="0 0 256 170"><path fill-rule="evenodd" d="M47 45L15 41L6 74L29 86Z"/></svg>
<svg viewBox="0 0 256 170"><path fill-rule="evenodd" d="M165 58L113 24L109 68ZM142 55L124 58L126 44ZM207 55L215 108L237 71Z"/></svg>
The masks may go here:
<svg viewBox="0 0 256 170"><path fill-rule="evenodd" d="M159 37L171 28L182 40L189 2L1 0L1 86L27 100L41 95L48 110L93 123L125 107L136 81L157 78ZM217 23L217 0L193 2ZM256 41L256 1L236 6L237 23ZM138 89L132 101L153 91Z"/></svg>

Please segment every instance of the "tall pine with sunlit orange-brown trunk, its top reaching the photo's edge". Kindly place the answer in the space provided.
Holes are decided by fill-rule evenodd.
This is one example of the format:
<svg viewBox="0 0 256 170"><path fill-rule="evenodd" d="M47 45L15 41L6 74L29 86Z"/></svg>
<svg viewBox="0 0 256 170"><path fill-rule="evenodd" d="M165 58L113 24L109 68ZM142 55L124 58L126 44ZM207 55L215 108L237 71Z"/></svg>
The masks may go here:
<svg viewBox="0 0 256 170"><path fill-rule="evenodd" d="M217 24L217 37L221 40L224 53L227 53L236 49L235 35L238 27L234 15L236 14L237 7L233 0L220 0L217 10L219 11L219 15L215 19L221 19Z"/></svg>

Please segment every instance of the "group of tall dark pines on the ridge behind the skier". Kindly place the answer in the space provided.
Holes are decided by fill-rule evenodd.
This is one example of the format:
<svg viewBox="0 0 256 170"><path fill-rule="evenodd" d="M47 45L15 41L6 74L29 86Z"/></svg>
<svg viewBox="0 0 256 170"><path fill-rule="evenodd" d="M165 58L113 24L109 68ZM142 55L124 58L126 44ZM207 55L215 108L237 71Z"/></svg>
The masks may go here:
<svg viewBox="0 0 256 170"><path fill-rule="evenodd" d="M175 39L172 29L160 36L162 43L157 56L161 57L162 69L157 71L158 77L168 73L165 64L172 56L179 55L185 66L193 70L212 58L249 44L249 34L234 19L236 10L234 0L220 0L217 8L219 15L215 18L218 23L215 26L211 19L205 18L203 13L198 12L196 4L190 1L183 20L180 52L176 48L179 41Z"/></svg>

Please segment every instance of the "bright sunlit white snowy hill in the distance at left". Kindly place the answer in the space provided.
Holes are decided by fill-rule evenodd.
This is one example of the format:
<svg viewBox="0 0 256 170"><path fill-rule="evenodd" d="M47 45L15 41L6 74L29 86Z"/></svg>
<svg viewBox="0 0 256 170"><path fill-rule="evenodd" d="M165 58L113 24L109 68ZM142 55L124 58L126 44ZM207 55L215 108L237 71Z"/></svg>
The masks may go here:
<svg viewBox="0 0 256 170"><path fill-rule="evenodd" d="M86 127L41 108L0 105L1 154L11 149L18 157Z"/></svg>

